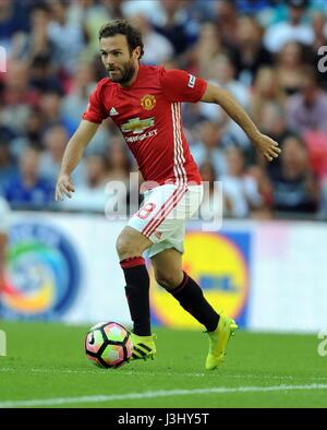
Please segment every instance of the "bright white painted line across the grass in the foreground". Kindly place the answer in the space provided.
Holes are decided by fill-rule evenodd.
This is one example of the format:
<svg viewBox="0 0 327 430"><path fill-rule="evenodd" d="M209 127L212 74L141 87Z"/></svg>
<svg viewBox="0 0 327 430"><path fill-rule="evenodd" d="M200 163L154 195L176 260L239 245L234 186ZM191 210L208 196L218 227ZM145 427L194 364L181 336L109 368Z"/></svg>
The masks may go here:
<svg viewBox="0 0 327 430"><path fill-rule="evenodd" d="M33 401L8 401L0 402L0 408L4 407L33 407L33 406L58 406L77 403L101 403L114 401L131 401L156 397L190 396L194 394L228 394L228 393L265 393L265 392L288 392L288 391L327 390L327 384L311 385L272 385L272 386L239 386L239 387L213 387L195 390L160 390L144 393L92 395L81 397L55 397L39 398Z"/></svg>

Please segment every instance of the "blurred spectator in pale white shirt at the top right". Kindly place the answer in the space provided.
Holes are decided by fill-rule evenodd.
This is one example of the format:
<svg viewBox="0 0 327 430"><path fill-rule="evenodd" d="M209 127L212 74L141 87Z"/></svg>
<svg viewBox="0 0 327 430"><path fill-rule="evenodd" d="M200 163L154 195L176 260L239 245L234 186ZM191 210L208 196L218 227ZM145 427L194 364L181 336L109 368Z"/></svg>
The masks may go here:
<svg viewBox="0 0 327 430"><path fill-rule="evenodd" d="M270 52L279 52L289 41L299 41L306 46L313 44L314 32L310 24L303 22L306 7L306 0L288 1L288 21L271 25L265 34L264 44Z"/></svg>

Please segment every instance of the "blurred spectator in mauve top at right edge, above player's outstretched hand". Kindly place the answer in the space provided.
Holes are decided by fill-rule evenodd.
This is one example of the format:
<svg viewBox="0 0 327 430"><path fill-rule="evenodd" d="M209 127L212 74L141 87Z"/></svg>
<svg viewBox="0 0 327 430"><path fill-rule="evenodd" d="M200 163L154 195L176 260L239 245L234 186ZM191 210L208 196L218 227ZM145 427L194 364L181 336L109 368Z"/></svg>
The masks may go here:
<svg viewBox="0 0 327 430"><path fill-rule="evenodd" d="M310 130L327 133L327 93L319 88L314 67L303 67L301 73L301 93L288 101L288 124L300 133Z"/></svg>

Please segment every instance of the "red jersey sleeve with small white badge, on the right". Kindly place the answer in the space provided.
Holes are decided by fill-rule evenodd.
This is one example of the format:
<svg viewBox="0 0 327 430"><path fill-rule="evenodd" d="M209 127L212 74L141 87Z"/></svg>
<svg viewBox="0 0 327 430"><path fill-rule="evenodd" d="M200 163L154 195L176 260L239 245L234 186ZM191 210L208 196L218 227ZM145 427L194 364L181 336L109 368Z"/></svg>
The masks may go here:
<svg viewBox="0 0 327 430"><path fill-rule="evenodd" d="M206 81L184 70L162 69L160 82L162 92L169 101L197 103L207 87Z"/></svg>

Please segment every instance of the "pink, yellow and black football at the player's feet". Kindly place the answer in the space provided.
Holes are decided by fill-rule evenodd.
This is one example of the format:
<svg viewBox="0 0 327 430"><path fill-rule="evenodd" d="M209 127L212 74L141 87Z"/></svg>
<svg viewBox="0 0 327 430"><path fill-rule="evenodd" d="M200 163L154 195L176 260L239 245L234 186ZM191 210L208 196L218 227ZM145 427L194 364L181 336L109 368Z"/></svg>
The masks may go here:
<svg viewBox="0 0 327 430"><path fill-rule="evenodd" d="M132 339L130 333L116 322L101 322L85 337L86 357L100 368L119 368L131 358Z"/></svg>

